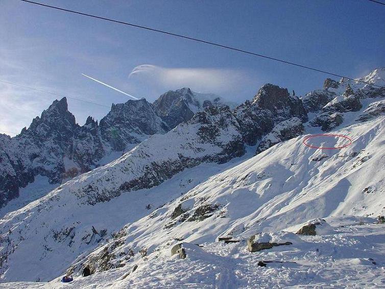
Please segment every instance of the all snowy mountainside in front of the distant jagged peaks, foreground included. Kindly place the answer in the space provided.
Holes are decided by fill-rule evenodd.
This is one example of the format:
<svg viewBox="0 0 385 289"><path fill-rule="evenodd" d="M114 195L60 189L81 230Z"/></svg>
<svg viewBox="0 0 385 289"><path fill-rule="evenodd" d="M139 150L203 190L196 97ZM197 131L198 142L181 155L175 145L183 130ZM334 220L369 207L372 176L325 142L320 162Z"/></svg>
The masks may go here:
<svg viewBox="0 0 385 289"><path fill-rule="evenodd" d="M365 79L378 85L383 71ZM381 284L383 225L367 223L384 211L383 97L382 88L327 80L302 100L267 84L234 109L208 106L7 214L0 220L1 278L53 280L46 284L53 287L65 272L75 287L255 287L258 280L322 286L316 276L334 266L340 284L362 272ZM328 151L302 143L322 130L353 142ZM331 227L316 237L287 233L315 218ZM358 221L362 227L353 226ZM293 246L247 252L246 240L259 232L266 233L254 242ZM185 259L170 254L181 242ZM266 269L275 279L259 272L261 260L284 262ZM369 267L371 260L378 266ZM355 266L344 269L344 261ZM93 275L82 278L85 266Z"/></svg>

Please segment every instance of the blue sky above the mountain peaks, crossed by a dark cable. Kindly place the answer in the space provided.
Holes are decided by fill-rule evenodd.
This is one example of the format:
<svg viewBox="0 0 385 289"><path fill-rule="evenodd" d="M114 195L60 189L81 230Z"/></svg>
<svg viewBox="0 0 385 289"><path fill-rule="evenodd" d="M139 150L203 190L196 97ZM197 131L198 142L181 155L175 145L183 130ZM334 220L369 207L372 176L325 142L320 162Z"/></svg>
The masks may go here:
<svg viewBox="0 0 385 289"><path fill-rule="evenodd" d="M41 3L235 46L258 54L358 77L385 66L385 6L367 0L102 1ZM2 0L0 80L98 102L155 100L181 87L232 101L253 97L263 83L319 88L327 75L212 47ZM131 73L136 71L135 73ZM131 73L131 76L129 77ZM0 129L19 132L56 97L0 83ZM108 108L68 99L79 124Z"/></svg>

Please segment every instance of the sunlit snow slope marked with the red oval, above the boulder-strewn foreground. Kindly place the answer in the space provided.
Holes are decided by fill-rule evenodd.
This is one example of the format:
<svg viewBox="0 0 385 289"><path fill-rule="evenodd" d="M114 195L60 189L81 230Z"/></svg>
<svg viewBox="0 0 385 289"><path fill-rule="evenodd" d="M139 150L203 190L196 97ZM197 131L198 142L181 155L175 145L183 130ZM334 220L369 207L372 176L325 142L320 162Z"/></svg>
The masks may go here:
<svg viewBox="0 0 385 289"><path fill-rule="evenodd" d="M128 248L157 254L176 240L200 244L227 235L243 239L315 218L384 214L384 130L381 116L336 131L353 139L345 149L311 149L302 144L304 136L275 145L212 176L150 217L126 225L121 239L111 239L88 261L98 264L98 256L108 248L108 262L114 268L125 262L121 252ZM178 206L183 212L175 217Z"/></svg>

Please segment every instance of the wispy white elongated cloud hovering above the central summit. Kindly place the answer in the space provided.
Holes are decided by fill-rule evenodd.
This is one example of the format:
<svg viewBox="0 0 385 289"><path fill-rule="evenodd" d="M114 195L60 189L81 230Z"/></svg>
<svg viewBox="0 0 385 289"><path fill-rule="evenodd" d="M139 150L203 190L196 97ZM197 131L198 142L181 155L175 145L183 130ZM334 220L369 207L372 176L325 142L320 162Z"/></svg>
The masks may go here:
<svg viewBox="0 0 385 289"><path fill-rule="evenodd" d="M217 68L166 68L143 64L136 66L129 79L148 81L165 89L189 87L200 92L228 93L246 83L250 77L244 71Z"/></svg>

